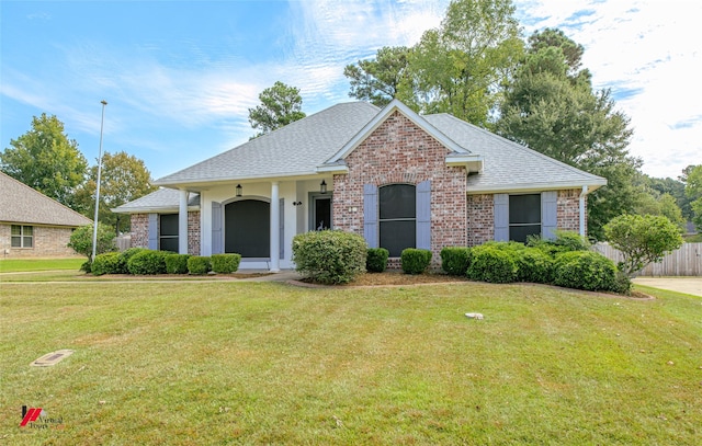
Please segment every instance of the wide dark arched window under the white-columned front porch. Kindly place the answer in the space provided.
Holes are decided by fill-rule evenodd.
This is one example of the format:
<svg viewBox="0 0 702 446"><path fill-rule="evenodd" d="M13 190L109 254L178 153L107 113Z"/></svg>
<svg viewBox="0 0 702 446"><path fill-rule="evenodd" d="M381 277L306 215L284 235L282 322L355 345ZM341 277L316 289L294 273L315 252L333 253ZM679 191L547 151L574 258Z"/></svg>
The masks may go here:
<svg viewBox="0 0 702 446"><path fill-rule="evenodd" d="M225 252L242 258L271 255L271 205L259 199L240 199L225 205Z"/></svg>

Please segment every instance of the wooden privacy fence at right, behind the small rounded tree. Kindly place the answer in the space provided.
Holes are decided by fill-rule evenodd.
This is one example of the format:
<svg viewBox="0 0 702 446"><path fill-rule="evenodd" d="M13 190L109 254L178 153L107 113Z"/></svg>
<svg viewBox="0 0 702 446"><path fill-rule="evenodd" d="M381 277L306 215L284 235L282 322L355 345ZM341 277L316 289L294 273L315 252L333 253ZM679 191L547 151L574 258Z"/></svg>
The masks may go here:
<svg viewBox="0 0 702 446"><path fill-rule="evenodd" d="M607 243L592 247L597 252L616 262L622 253ZM652 263L639 276L702 276L702 243L683 243L682 248L666 255L660 263Z"/></svg>

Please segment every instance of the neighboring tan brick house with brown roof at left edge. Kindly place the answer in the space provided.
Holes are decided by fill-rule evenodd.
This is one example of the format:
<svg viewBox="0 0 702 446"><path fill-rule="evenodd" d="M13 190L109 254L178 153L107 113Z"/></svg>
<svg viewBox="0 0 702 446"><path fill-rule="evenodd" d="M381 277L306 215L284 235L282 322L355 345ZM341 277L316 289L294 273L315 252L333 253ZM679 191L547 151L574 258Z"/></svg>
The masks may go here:
<svg viewBox="0 0 702 446"><path fill-rule="evenodd" d="M68 248L73 229L92 221L0 172L0 254L2 258L77 255Z"/></svg>

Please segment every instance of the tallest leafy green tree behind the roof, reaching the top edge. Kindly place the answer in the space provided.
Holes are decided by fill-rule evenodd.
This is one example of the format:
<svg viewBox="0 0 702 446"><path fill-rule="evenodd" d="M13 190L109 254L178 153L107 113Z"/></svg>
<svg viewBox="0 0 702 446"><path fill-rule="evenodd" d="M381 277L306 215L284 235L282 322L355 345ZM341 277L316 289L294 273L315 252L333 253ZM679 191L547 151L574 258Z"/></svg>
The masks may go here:
<svg viewBox="0 0 702 446"><path fill-rule="evenodd" d="M412 48L405 98L420 112L485 126L522 48L511 0L454 0Z"/></svg>

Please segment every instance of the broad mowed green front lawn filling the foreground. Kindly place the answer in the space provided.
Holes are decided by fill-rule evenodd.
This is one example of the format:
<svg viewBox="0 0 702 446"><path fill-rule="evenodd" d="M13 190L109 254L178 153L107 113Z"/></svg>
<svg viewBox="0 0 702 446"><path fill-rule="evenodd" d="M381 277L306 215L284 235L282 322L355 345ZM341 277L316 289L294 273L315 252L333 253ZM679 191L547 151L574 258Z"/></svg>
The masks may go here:
<svg viewBox="0 0 702 446"><path fill-rule="evenodd" d="M0 439L695 445L702 299L646 291L5 283ZM22 404L64 428L20 430Z"/></svg>

